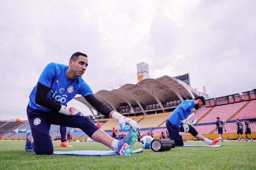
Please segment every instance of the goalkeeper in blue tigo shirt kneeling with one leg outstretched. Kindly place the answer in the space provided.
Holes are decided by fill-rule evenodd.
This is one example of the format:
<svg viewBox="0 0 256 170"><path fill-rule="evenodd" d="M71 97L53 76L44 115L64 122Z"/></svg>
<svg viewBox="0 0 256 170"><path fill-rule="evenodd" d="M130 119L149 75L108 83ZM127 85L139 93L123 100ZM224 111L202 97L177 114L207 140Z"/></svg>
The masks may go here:
<svg viewBox="0 0 256 170"><path fill-rule="evenodd" d="M49 130L51 124L71 128L80 128L94 141L100 142L120 155L130 155L140 126L134 120L113 111L93 94L81 76L88 66L87 55L76 52L69 65L50 63L43 70L36 86L33 88L27 106L27 115L31 131L26 134L25 149L36 154L53 154L53 143ZM66 103L76 94L81 94L101 114L119 122L121 129L129 134L121 141L111 138L94 125L90 119L75 107Z"/></svg>

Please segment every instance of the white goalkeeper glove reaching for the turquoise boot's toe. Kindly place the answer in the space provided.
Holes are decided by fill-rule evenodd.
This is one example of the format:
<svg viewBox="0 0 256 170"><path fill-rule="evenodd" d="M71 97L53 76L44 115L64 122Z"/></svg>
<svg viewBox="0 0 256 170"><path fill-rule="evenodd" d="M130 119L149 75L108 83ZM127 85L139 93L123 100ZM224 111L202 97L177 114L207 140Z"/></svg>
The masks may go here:
<svg viewBox="0 0 256 170"><path fill-rule="evenodd" d="M124 132L128 131L125 125L131 126L134 131L137 131L140 129L140 125L136 121L128 117L125 117L118 112L114 112L112 114L112 119L117 120L119 122L119 125Z"/></svg>

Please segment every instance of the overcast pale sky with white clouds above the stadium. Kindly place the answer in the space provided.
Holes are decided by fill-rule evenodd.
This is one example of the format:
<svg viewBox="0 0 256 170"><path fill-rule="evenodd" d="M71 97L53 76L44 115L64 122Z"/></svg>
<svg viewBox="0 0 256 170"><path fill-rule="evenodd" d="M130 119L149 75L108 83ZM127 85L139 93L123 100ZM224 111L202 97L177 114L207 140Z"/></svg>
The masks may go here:
<svg viewBox="0 0 256 170"><path fill-rule="evenodd" d="M256 1L1 1L0 120L27 120L29 94L50 62L88 55L94 93L136 64L150 78L190 73L191 86L228 95L256 87ZM71 100L68 106L85 105Z"/></svg>

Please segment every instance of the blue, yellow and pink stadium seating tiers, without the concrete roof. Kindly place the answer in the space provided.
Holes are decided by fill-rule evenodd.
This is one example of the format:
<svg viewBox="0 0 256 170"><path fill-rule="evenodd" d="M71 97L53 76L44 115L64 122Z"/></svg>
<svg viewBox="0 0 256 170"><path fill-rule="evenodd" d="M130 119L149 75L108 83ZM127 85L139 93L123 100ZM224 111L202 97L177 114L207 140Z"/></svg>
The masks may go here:
<svg viewBox="0 0 256 170"><path fill-rule="evenodd" d="M242 100L233 102L232 98L229 100L229 96L217 97L214 99L206 99L206 107L199 109L198 111L193 111L191 116L187 121L193 123L194 128L204 136L214 139L217 135L215 129L216 117L220 117L220 120L224 122L226 132L223 133L224 139L236 139L236 119L239 119L240 122L244 125L243 119L248 119L251 125L251 131L253 136L256 135L256 89L249 91L247 98L244 98L242 94L239 94ZM222 100L225 98L227 100ZM214 105L209 105L210 101L213 100ZM222 101L222 102L220 102ZM170 102L169 102L170 103ZM166 105L162 103L163 106ZM123 103L120 103L123 106ZM177 106L177 105L176 105ZM170 107L170 106L169 106ZM172 109L175 109L173 107ZM153 108L151 110L154 110ZM140 133L142 135L147 135L148 132L152 131L154 138L159 138L159 135L162 131L166 132L166 120L172 114L170 112L158 113L157 108L155 108L155 113L141 116L130 116L129 118L136 120L140 126ZM128 132L122 132L118 125L118 122L113 119L95 119L94 122L99 121L101 129L104 130L108 135L112 135L112 128L117 129L117 134L127 135ZM16 122L15 120L0 121L0 133L3 134L1 139L18 139L24 140L26 136L26 131L30 130L28 121ZM74 139L87 139L88 136L77 128L67 127L67 132L70 131ZM60 137L60 126L52 125L50 128L50 135L53 140ZM193 140L194 138L191 135L186 135L182 133L183 138L186 140Z"/></svg>

